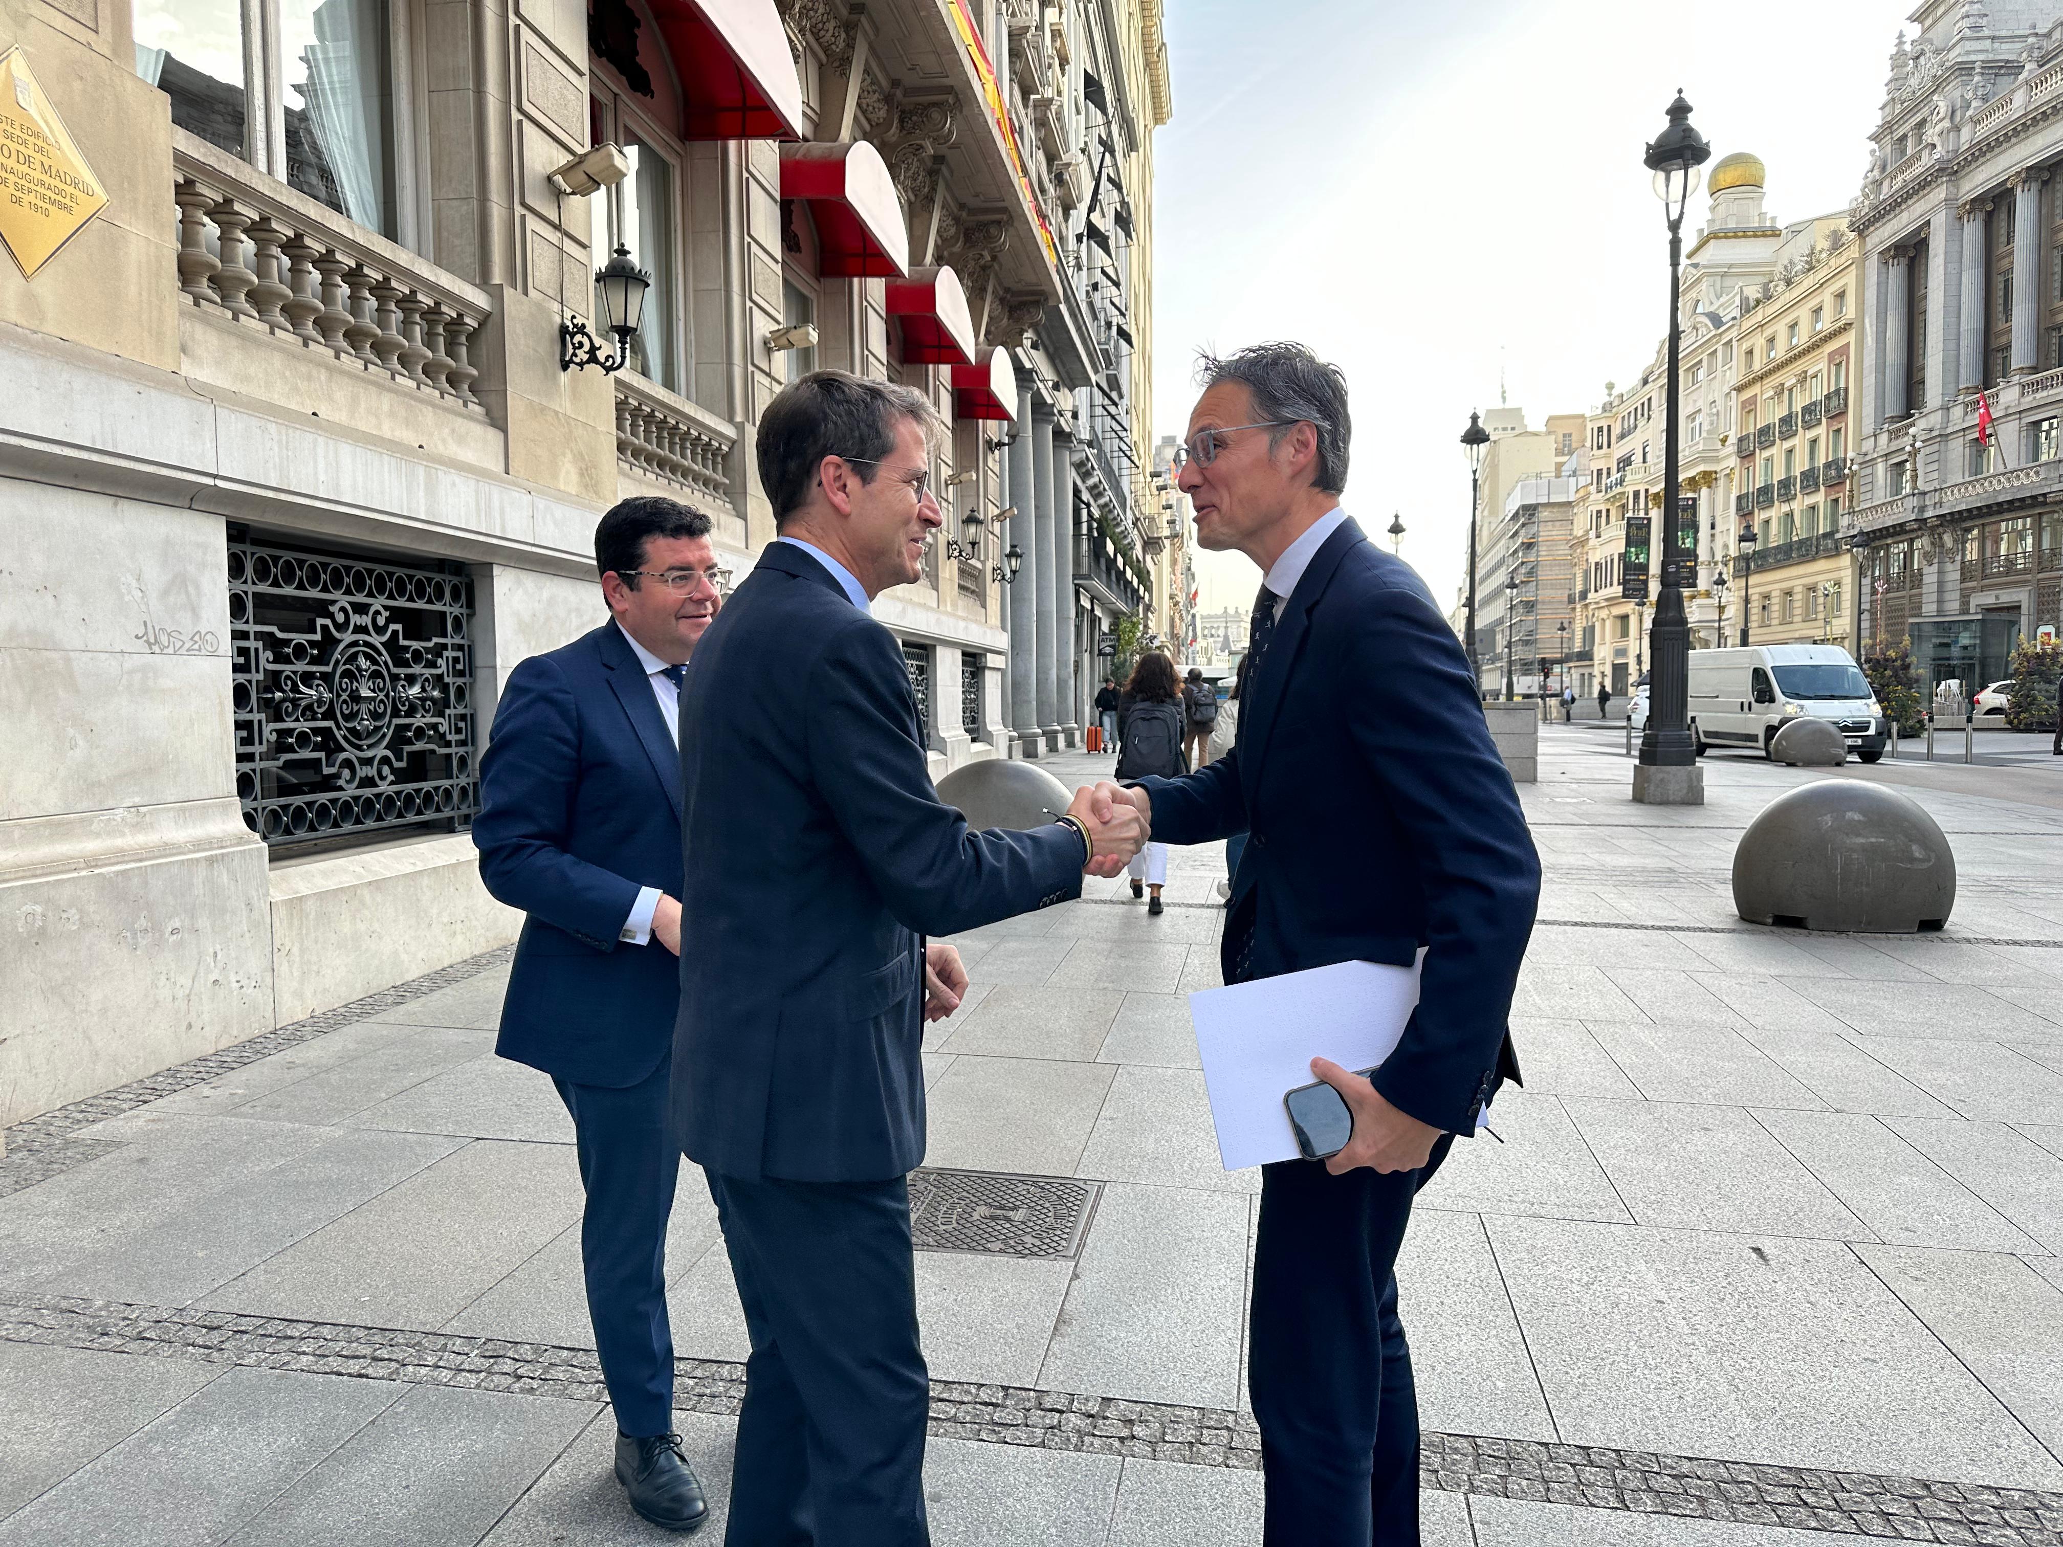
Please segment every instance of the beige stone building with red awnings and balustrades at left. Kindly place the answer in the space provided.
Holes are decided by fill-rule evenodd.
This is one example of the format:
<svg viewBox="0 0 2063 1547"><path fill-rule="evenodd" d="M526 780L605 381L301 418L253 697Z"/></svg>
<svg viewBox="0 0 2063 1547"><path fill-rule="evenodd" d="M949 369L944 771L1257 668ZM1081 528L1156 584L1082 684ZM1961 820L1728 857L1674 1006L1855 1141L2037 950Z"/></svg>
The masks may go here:
<svg viewBox="0 0 2063 1547"><path fill-rule="evenodd" d="M623 495L753 563L753 435L807 369L953 427L947 530L875 604L935 771L1081 724L1118 588L1079 538L1137 553L1149 454L1157 0L0 0L0 33L6 132L62 173L17 192L83 219L54 256L0 221L37 749L0 1122L510 941L466 833L499 685L602 621Z"/></svg>

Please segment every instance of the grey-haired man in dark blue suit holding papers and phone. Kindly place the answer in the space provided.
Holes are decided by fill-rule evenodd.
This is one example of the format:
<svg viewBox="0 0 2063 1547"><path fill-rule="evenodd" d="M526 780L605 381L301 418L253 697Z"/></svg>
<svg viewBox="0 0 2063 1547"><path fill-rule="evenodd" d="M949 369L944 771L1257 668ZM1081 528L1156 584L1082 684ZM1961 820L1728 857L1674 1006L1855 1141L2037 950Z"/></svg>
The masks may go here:
<svg viewBox="0 0 2063 1547"><path fill-rule="evenodd" d="M1324 1163L1263 1167L1248 1386L1269 1547L1409 1547L1417 1396L1393 1264L1411 1198L1504 1079L1539 858L1461 641L1409 565L1339 507L1347 388L1300 344L1205 361L1178 454L1197 540L1238 549L1254 604L1232 755L1133 790L1153 837L1248 829L1225 982L1411 965L1419 1002L1374 1081L1316 1058L1353 1114Z"/></svg>

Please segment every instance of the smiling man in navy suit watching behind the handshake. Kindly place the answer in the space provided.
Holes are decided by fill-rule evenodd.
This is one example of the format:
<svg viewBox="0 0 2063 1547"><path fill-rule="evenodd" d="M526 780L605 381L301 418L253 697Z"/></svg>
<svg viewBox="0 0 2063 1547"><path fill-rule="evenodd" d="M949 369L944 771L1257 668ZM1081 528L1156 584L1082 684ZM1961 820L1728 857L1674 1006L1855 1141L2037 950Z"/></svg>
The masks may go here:
<svg viewBox="0 0 2063 1547"><path fill-rule="evenodd" d="M617 1413L617 1481L646 1520L693 1530L708 1506L673 1431L666 1326L681 1167L666 1128L681 1005L677 724L722 569L710 518L673 499L625 499L602 516L594 565L611 621L510 672L472 842L487 889L530 916L495 1052L551 1075L574 1116L588 1194L580 1258Z"/></svg>

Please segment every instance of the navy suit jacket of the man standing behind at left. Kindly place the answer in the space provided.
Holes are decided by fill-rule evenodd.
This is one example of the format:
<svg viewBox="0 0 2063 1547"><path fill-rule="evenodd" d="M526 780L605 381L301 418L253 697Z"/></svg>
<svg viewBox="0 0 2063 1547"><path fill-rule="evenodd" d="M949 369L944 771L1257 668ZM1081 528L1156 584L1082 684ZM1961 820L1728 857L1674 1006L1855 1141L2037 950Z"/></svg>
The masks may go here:
<svg viewBox="0 0 2063 1547"><path fill-rule="evenodd" d="M615 623L510 672L472 844L487 889L530 916L495 1052L580 1085L658 1068L679 963L617 934L640 889L681 895L681 757Z"/></svg>

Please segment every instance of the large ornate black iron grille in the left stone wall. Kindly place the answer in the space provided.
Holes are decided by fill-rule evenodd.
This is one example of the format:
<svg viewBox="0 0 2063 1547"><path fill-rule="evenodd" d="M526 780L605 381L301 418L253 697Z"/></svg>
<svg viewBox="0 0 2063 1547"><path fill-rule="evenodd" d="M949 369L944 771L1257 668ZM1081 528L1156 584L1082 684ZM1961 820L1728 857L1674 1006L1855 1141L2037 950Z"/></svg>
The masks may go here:
<svg viewBox="0 0 2063 1547"><path fill-rule="evenodd" d="M231 532L237 798L266 844L472 825L472 582Z"/></svg>

